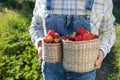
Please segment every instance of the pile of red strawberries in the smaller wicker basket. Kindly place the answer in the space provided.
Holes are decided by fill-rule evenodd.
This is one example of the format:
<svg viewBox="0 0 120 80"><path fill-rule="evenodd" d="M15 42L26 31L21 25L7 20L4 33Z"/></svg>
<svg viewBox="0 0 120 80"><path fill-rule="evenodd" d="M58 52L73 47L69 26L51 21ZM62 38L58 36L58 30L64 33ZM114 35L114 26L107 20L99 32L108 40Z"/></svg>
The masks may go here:
<svg viewBox="0 0 120 80"><path fill-rule="evenodd" d="M45 43L49 43L49 44L51 44L51 43L59 43L59 42L62 41L62 38L54 30L49 30L48 34L43 38L43 41Z"/></svg>

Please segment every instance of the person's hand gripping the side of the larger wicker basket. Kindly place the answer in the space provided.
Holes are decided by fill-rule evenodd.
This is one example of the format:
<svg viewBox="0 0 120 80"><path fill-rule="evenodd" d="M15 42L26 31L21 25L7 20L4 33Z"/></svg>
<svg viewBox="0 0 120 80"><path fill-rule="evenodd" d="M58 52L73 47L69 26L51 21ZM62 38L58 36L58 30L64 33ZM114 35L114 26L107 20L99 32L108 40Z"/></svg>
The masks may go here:
<svg viewBox="0 0 120 80"><path fill-rule="evenodd" d="M99 50L97 60L95 61L96 69L99 69L101 67L103 59L104 59L104 54L101 50Z"/></svg>

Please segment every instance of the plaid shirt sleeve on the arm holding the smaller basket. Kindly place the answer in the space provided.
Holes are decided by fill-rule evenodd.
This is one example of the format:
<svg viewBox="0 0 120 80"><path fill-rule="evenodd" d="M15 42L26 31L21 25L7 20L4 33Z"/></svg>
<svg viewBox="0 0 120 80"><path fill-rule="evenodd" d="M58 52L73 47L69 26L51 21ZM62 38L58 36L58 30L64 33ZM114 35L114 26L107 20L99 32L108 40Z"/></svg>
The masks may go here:
<svg viewBox="0 0 120 80"><path fill-rule="evenodd" d="M43 16L42 14L44 11L42 10L40 3L41 3L40 0L36 0L31 26L29 27L31 40L35 44L36 48L40 46L39 42L44 37L43 20L42 20L42 16Z"/></svg>

